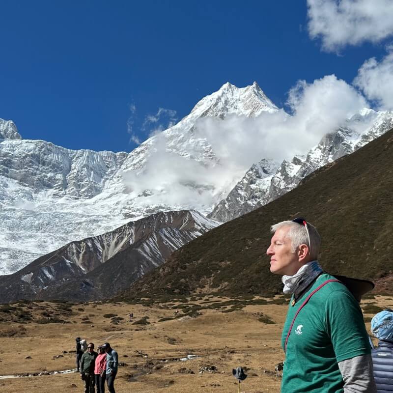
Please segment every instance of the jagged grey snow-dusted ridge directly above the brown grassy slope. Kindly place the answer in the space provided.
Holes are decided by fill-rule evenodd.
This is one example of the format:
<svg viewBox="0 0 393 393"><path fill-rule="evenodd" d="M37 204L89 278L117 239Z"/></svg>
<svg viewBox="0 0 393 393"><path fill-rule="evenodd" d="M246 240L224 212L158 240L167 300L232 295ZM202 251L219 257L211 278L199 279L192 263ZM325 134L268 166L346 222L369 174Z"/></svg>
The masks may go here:
<svg viewBox="0 0 393 393"><path fill-rule="evenodd" d="M365 108L347 119L335 132L325 135L307 155L284 160L280 166L272 164L269 167L271 172L261 171L260 163L253 164L208 217L226 222L263 206L295 188L314 170L353 153L392 128L393 112ZM265 162L268 161L261 161Z"/></svg>

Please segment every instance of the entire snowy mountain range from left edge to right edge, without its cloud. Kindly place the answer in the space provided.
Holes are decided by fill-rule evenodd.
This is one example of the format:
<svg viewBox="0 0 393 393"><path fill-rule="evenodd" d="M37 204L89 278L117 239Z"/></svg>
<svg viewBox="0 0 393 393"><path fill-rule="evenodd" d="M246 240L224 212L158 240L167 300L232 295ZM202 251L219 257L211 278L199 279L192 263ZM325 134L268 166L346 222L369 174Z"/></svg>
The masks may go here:
<svg viewBox="0 0 393 393"><path fill-rule="evenodd" d="M248 169L223 160L216 134L204 132L213 119L219 124L227 116L278 114L291 117L257 83L242 88L226 83L129 153L24 140L12 121L0 119L0 274L14 273L75 239L162 211L197 210L230 221L393 127L393 112L364 108L308 152L311 146L305 146L305 155L282 162L261 156Z"/></svg>

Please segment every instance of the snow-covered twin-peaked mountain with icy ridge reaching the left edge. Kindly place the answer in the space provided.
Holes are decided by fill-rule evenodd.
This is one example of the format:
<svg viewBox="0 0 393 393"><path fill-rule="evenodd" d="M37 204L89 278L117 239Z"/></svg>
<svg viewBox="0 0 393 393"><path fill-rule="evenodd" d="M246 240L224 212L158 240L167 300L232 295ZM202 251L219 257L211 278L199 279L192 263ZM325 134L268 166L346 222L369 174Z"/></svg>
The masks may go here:
<svg viewBox="0 0 393 393"><path fill-rule="evenodd" d="M0 120L0 274L130 219L159 211L210 212L244 171L225 182L209 175L223 164L197 122L277 110L256 83L227 83L129 154L23 140L12 121Z"/></svg>

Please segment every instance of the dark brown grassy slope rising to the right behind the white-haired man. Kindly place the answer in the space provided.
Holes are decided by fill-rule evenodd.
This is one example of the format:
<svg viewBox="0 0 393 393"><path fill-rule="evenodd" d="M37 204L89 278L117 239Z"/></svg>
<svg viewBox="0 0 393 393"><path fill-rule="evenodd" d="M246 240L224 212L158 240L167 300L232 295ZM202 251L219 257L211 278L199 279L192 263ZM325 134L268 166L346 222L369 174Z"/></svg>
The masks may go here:
<svg viewBox="0 0 393 393"><path fill-rule="evenodd" d="M199 290L274 293L265 251L270 225L303 216L322 236L320 262L329 272L376 279L393 271L393 130L306 178L283 197L200 236L137 281L138 293ZM202 288L202 289L201 289Z"/></svg>

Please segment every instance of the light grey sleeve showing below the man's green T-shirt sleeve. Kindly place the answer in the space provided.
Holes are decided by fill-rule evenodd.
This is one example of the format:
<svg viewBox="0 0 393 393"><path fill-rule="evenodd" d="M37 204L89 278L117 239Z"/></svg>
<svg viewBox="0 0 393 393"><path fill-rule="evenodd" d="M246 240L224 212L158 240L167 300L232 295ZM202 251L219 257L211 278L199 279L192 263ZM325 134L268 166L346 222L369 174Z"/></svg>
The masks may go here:
<svg viewBox="0 0 393 393"><path fill-rule="evenodd" d="M355 356L338 363L344 393L376 393L371 355Z"/></svg>

